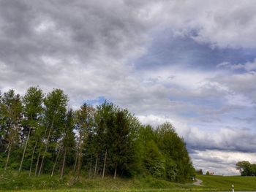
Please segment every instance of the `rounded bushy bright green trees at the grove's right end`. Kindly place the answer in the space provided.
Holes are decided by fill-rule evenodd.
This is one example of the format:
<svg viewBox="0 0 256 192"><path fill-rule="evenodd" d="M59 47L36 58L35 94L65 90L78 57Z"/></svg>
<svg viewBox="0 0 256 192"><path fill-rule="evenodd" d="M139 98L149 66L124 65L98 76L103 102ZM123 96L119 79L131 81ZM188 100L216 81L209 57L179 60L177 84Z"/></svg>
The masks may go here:
<svg viewBox="0 0 256 192"><path fill-rule="evenodd" d="M138 140L141 164L153 177L184 182L195 174L186 145L170 123L156 130L141 127Z"/></svg>

